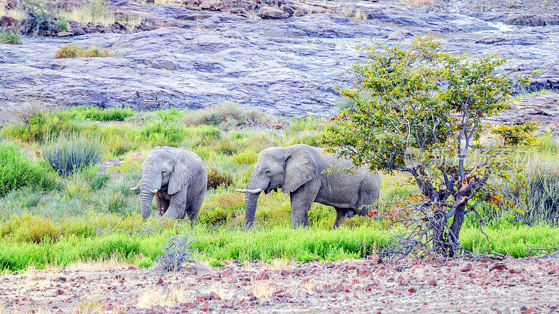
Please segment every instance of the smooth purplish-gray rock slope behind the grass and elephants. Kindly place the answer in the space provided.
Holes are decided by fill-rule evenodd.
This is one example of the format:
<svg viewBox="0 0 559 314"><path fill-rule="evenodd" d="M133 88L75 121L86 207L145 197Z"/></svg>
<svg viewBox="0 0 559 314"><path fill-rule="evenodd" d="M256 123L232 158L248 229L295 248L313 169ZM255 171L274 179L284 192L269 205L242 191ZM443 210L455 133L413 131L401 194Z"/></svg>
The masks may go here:
<svg viewBox="0 0 559 314"><path fill-rule="evenodd" d="M140 110L232 100L271 114L331 115L339 101L333 87L351 84L347 70L366 61L357 45L370 45L373 36L405 47L413 36L427 33L435 33L451 52L499 53L508 58L503 70L540 70L530 89L559 89L559 25L549 22L557 13L553 8L544 22L526 22L545 25L534 28L504 24L521 9L495 5L484 15L466 10L467 1L458 1L453 13L446 1L424 7L400 1L231 3L194 1L189 9L112 1L120 14L150 22L136 27L137 33L119 25L82 27L69 37L0 45L0 110L30 99ZM54 59L66 43L107 48L118 57Z"/></svg>

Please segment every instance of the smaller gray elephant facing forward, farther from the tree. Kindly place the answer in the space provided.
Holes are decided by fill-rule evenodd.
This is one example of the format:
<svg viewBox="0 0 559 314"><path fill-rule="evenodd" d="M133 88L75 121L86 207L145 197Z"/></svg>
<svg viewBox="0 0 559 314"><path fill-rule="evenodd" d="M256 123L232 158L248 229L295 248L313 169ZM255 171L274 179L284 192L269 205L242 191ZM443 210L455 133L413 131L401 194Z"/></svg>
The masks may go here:
<svg viewBox="0 0 559 314"><path fill-rule="evenodd" d="M140 193L142 218L150 216L156 195L159 216L194 222L202 207L208 171L203 160L184 147L155 147L142 163L142 179L131 190Z"/></svg>

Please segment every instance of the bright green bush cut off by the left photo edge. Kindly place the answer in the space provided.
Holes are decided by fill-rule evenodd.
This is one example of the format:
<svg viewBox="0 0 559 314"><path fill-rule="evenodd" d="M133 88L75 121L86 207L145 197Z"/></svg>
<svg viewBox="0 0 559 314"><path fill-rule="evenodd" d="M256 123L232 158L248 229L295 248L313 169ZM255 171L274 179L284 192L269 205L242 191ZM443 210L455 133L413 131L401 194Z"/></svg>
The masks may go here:
<svg viewBox="0 0 559 314"><path fill-rule="evenodd" d="M48 166L32 161L6 141L0 141L0 169L0 196L24 186L45 190L57 186L56 174Z"/></svg>

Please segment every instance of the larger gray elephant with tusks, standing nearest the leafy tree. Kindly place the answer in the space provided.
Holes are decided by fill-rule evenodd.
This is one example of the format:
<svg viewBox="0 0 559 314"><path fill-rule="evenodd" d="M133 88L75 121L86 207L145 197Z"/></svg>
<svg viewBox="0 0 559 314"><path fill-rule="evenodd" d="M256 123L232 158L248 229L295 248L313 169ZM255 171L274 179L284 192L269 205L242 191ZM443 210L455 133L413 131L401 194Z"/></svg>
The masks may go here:
<svg viewBox="0 0 559 314"><path fill-rule="evenodd" d="M351 169L349 173L344 170ZM367 167L355 168L351 161L336 158L324 149L306 144L272 147L261 151L246 189L245 227L254 221L256 202L263 191L282 188L291 199L291 225L309 225L312 203L332 206L336 210L333 228L344 218L367 214L363 205L379 199L381 178Z"/></svg>

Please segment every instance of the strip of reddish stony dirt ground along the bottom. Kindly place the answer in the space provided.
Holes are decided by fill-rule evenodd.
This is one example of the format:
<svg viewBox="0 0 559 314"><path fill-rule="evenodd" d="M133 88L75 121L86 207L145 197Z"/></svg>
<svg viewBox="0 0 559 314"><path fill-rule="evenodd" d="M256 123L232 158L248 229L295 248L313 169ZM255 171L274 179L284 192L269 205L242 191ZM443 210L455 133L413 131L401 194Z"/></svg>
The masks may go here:
<svg viewBox="0 0 559 314"><path fill-rule="evenodd" d="M386 265L227 261L158 274L76 264L0 277L5 313L395 313L559 311L559 261L486 258ZM205 268L205 269L204 269Z"/></svg>

